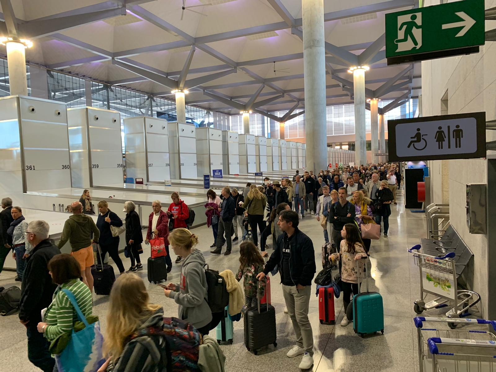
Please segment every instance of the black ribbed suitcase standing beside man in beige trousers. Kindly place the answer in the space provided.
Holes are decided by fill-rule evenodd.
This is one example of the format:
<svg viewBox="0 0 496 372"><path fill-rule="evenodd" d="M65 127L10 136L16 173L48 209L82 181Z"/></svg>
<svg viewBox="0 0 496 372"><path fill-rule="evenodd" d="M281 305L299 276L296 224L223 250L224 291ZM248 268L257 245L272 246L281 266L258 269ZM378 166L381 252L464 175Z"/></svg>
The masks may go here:
<svg viewBox="0 0 496 372"><path fill-rule="evenodd" d="M243 318L245 319L245 345L248 351L257 350L267 346L277 346L276 331L276 310L272 305L266 304L260 310L260 300L258 306L243 308Z"/></svg>

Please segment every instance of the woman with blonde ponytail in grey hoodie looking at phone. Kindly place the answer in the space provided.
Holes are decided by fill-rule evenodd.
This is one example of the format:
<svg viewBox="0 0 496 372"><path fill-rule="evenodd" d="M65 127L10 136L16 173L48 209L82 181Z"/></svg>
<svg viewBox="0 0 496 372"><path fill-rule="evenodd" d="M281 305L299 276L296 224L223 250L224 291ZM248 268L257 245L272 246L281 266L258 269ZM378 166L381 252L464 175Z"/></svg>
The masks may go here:
<svg viewBox="0 0 496 372"><path fill-rule="evenodd" d="M164 294L179 305L178 317L195 327L202 335L208 334L212 312L208 306L205 258L194 248L198 237L188 229L175 229L169 234L169 243L174 253L183 256L179 283L169 283Z"/></svg>

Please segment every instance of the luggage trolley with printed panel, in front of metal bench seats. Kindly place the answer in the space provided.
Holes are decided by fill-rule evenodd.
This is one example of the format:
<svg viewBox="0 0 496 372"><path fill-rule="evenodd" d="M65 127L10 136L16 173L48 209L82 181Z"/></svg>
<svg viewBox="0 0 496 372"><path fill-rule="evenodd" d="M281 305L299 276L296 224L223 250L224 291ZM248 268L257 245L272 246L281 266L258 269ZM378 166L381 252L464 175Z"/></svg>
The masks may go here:
<svg viewBox="0 0 496 372"><path fill-rule="evenodd" d="M480 301L477 292L468 290L458 290L455 262L455 252L449 252L444 256L436 257L425 253L419 253L422 248L416 245L408 251L413 253L415 264L420 270L420 300L414 302L413 310L421 314L424 310L439 309L453 305L451 310L446 312L448 318L458 318L467 316L468 309ZM413 252L417 250L417 252ZM437 296L434 300L426 304L427 294ZM450 322L451 328L456 327L456 322Z"/></svg>

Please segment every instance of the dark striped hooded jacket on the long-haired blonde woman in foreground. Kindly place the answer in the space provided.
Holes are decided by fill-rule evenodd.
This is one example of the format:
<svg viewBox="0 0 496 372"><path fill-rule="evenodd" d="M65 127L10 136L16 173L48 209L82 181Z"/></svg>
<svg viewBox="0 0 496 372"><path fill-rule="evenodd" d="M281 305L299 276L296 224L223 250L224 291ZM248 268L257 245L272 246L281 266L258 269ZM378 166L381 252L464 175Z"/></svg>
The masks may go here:
<svg viewBox="0 0 496 372"><path fill-rule="evenodd" d="M136 329L148 327L162 328L164 326L164 309L160 308L150 315L144 315L143 321ZM131 337L132 335L130 335ZM162 372L163 363L160 361L162 353L156 340L150 336L133 338L124 346L121 356L110 363L107 372Z"/></svg>

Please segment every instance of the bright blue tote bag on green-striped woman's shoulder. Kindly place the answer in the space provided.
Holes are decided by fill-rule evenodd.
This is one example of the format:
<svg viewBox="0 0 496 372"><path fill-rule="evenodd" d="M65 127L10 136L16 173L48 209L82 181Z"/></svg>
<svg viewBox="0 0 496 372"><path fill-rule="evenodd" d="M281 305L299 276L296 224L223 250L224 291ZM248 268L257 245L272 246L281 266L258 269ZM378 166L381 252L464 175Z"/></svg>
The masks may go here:
<svg viewBox="0 0 496 372"><path fill-rule="evenodd" d="M77 332L72 329L67 346L55 356L57 369L59 372L96 372L105 363L100 322L88 323L74 295L67 289L62 291L76 310L78 320L84 323L84 328Z"/></svg>

